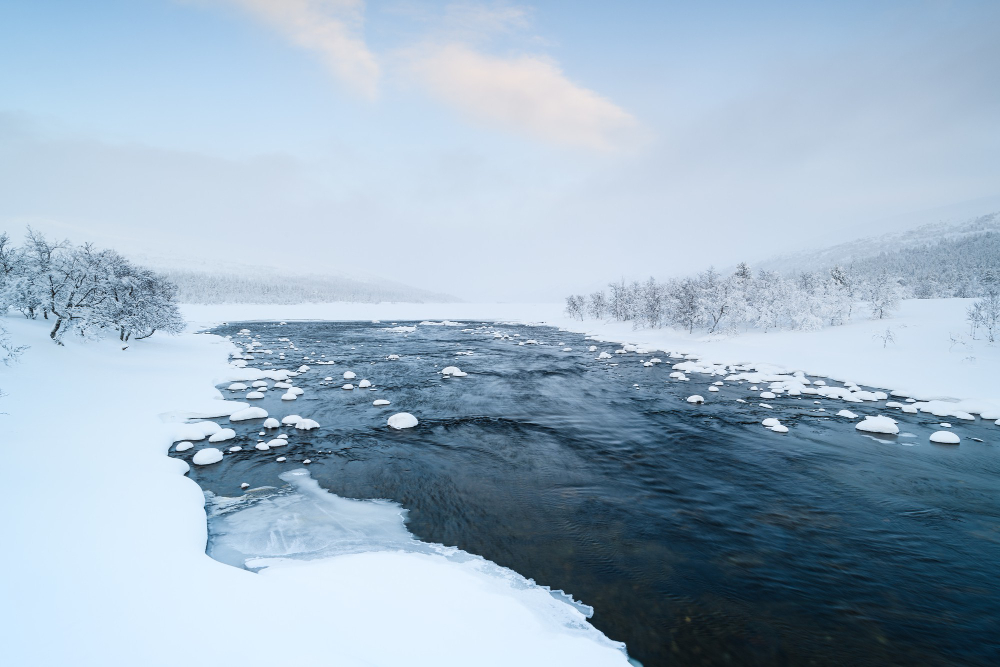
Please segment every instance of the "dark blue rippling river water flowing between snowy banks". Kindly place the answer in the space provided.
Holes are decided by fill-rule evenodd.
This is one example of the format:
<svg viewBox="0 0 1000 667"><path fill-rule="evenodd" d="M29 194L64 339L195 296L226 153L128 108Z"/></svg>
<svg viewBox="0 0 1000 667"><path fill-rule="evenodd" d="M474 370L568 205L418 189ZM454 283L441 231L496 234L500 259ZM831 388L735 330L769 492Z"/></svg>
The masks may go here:
<svg viewBox="0 0 1000 667"><path fill-rule="evenodd" d="M767 409L749 383L709 393L720 377L670 379L676 360L662 352L651 368L640 360L652 354L598 361L590 345L618 346L482 325L216 329L237 342L250 340L242 328L261 336L273 354L250 366L309 364L292 380L298 400L271 389L253 404L321 428L283 428L289 445L265 452L253 449L261 420L218 420L238 433L218 446L244 450L190 476L236 497L241 483L287 488L279 475L309 459L338 496L399 503L420 540L593 606L591 622L647 667L1000 664L1000 427L884 401L779 396ZM527 339L542 344L518 344ZM450 365L469 375L442 378ZM377 391L344 391L344 371ZM689 404L692 394L708 400ZM834 416L843 408L891 415L900 435L866 436ZM387 428L404 411L419 425ZM789 432L762 427L767 417ZM959 446L928 441L942 421ZM190 461L202 446L172 455Z"/></svg>

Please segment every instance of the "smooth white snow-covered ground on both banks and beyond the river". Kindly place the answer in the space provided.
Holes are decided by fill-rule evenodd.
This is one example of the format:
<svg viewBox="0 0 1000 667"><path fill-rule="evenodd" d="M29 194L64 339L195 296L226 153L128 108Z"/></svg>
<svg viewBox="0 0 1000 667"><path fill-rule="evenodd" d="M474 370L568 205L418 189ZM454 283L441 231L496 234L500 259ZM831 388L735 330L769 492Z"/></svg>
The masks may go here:
<svg viewBox="0 0 1000 667"><path fill-rule="evenodd" d="M191 331L127 350L114 340L57 347L42 323L8 317L11 338L31 349L0 370L8 394L0 399L0 664L626 664L573 607L473 561L380 552L255 574L209 558L202 492L166 453L176 420L228 415L244 404L218 400L214 385L231 379L230 344L193 333L199 326L544 321L702 362L800 369L995 412L1000 349L963 335L966 306L908 301L881 322L736 337L571 321L556 304L189 306ZM887 328L894 342L880 337Z"/></svg>

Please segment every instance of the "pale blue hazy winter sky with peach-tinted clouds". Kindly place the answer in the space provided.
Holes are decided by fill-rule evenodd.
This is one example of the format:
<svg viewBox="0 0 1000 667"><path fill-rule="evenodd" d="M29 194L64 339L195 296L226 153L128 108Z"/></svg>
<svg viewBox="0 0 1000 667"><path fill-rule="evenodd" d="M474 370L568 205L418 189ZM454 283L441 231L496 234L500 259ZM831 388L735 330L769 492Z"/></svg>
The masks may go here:
<svg viewBox="0 0 1000 667"><path fill-rule="evenodd" d="M467 300L752 263L1000 208L998 34L972 0L0 0L0 229Z"/></svg>

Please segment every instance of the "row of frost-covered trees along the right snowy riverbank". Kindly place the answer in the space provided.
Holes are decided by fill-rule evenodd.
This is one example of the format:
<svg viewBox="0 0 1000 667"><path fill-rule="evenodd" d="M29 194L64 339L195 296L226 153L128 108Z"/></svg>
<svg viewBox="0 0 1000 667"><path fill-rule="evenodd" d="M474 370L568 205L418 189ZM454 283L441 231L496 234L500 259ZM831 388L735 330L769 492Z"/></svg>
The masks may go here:
<svg viewBox="0 0 1000 667"><path fill-rule="evenodd" d="M888 316L904 294L900 280L881 271L859 275L843 267L794 278L754 273L740 264L731 275L714 269L658 282L610 283L607 290L566 299L570 317L616 319L635 326L676 326L715 332L746 329L818 329L850 321L857 304L868 314Z"/></svg>

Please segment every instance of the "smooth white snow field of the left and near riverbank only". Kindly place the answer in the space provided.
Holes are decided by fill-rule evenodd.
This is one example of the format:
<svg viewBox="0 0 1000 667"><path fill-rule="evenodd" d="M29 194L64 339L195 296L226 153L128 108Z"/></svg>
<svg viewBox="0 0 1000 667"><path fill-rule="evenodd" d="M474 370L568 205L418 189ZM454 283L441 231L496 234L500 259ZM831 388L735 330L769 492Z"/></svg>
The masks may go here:
<svg viewBox="0 0 1000 667"><path fill-rule="evenodd" d="M382 551L258 573L213 560L205 497L167 451L183 417L246 407L214 388L234 379L231 344L57 347L42 322L4 324L31 349L0 371L0 664L628 664L575 606L481 559Z"/></svg>

